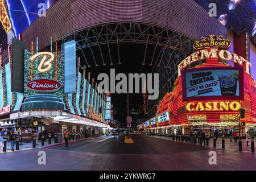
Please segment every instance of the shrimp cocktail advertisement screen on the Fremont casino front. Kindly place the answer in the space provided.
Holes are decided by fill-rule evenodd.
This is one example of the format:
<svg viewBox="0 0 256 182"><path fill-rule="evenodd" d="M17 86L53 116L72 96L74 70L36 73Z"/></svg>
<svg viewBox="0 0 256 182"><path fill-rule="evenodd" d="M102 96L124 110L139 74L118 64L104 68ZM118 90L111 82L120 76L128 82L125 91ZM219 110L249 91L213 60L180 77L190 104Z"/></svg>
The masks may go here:
<svg viewBox="0 0 256 182"><path fill-rule="evenodd" d="M181 72L183 100L229 98L243 100L243 67L207 67Z"/></svg>

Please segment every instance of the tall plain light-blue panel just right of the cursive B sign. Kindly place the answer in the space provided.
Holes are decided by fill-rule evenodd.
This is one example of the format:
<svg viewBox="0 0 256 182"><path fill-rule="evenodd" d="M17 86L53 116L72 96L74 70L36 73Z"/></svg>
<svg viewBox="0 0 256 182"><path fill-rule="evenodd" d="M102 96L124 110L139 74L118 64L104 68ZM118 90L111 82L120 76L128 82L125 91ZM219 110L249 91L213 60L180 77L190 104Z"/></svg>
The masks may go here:
<svg viewBox="0 0 256 182"><path fill-rule="evenodd" d="M64 93L76 91L76 42L64 43Z"/></svg>

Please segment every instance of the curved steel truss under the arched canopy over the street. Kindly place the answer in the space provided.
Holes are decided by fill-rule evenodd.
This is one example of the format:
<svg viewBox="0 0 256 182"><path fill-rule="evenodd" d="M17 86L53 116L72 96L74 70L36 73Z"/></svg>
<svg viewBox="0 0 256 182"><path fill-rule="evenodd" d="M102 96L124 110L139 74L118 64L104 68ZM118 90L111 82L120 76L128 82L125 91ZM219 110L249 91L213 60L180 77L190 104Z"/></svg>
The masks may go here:
<svg viewBox="0 0 256 182"><path fill-rule="evenodd" d="M113 58L111 55L112 51L118 52L118 64L122 64L119 55L119 44L122 43L135 43L144 44L144 59L142 60L142 65L146 65L146 54L148 51L148 46L154 46L154 53L150 63L148 65L160 65L164 62L166 64L164 67L168 67L173 61L177 54L182 54L187 52L191 47L191 39L167 28L154 26L151 24L144 23L109 23L101 24L100 26L90 27L86 30L81 30L73 34L65 36L61 43L68 42L70 40L75 40L77 44L77 51L81 51L85 63L88 67L91 65L98 66L102 65L113 65ZM110 44L115 44L117 49L110 49ZM102 55L102 46L108 47L110 63L106 63L106 55ZM96 60L94 57L93 49L97 47L100 50L101 60ZM156 49L161 49L157 52ZM88 60L84 54L84 50L89 49L92 53L93 60ZM167 59L168 61L163 61ZM154 63L156 60L156 63Z"/></svg>

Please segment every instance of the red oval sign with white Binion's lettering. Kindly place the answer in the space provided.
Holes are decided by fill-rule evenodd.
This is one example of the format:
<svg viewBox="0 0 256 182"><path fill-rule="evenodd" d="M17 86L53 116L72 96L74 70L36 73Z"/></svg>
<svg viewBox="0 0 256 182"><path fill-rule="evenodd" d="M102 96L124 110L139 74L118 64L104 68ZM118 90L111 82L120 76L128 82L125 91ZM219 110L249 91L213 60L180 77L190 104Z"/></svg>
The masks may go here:
<svg viewBox="0 0 256 182"><path fill-rule="evenodd" d="M55 80L37 79L28 82L27 87L37 92L53 92L60 89L61 84Z"/></svg>

